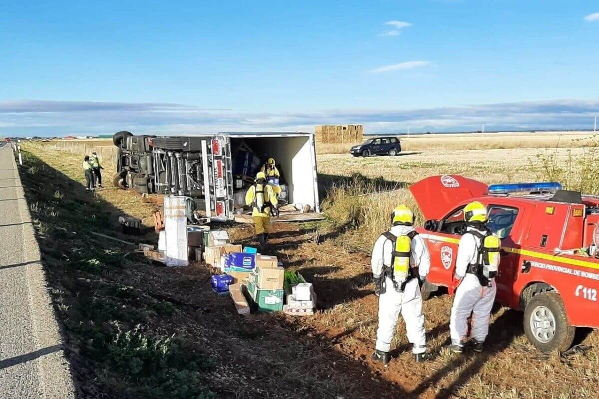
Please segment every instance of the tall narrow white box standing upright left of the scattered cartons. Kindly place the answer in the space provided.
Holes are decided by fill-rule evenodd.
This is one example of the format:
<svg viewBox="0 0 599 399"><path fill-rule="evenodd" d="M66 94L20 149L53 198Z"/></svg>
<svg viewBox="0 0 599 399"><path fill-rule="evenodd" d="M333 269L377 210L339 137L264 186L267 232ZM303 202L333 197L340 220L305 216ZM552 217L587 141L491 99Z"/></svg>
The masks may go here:
<svg viewBox="0 0 599 399"><path fill-rule="evenodd" d="M164 233L167 266L187 266L187 217L185 197L164 197Z"/></svg>

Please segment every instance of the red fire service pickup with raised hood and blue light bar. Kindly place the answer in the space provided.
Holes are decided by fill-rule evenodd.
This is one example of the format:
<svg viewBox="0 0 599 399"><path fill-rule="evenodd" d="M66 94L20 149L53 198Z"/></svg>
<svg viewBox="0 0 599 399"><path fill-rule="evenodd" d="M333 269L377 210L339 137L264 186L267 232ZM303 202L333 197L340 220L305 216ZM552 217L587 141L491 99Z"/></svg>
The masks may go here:
<svg viewBox="0 0 599 399"><path fill-rule="evenodd" d="M410 187L427 219L418 229L431 252L424 296L449 287L464 229L464 206L489 211L501 238L495 301L524 311L524 331L543 352L565 351L576 327L599 327L599 197L558 183L495 184L463 176L431 176ZM599 252L598 252L599 253Z"/></svg>

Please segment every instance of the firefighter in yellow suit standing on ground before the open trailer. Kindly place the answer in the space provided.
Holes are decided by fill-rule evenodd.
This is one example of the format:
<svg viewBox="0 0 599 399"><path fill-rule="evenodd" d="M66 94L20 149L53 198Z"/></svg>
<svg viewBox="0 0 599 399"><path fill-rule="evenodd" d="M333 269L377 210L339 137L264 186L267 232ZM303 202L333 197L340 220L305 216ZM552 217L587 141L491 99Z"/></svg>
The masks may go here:
<svg viewBox="0 0 599 399"><path fill-rule="evenodd" d="M270 232L271 209L279 205L274 188L266 184L264 172L258 172L256 183L247 190L246 205L252 206L252 218L258 242L265 248Z"/></svg>

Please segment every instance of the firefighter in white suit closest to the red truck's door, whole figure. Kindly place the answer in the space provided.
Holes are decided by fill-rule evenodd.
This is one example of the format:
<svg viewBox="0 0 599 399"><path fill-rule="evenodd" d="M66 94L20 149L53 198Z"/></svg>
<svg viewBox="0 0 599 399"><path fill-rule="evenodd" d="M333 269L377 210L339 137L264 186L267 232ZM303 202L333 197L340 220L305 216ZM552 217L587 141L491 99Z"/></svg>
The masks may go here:
<svg viewBox="0 0 599 399"><path fill-rule="evenodd" d="M497 236L486 227L487 209L480 202L471 202L464 208L466 232L458 245L455 278L450 293L455 291L449 330L451 350L461 353L468 333L474 339L474 351L482 352L489 333L489 318L495 301L495 275L499 264Z"/></svg>

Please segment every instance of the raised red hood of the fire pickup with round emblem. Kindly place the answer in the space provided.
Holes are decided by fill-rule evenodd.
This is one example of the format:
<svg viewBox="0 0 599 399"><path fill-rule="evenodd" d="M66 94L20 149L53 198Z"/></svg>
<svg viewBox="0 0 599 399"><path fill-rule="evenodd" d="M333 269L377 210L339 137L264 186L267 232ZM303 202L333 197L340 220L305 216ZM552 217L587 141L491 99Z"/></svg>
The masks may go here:
<svg viewBox="0 0 599 399"><path fill-rule="evenodd" d="M458 175L430 176L410 186L420 211L428 219L438 220L458 203L486 194L488 185Z"/></svg>

